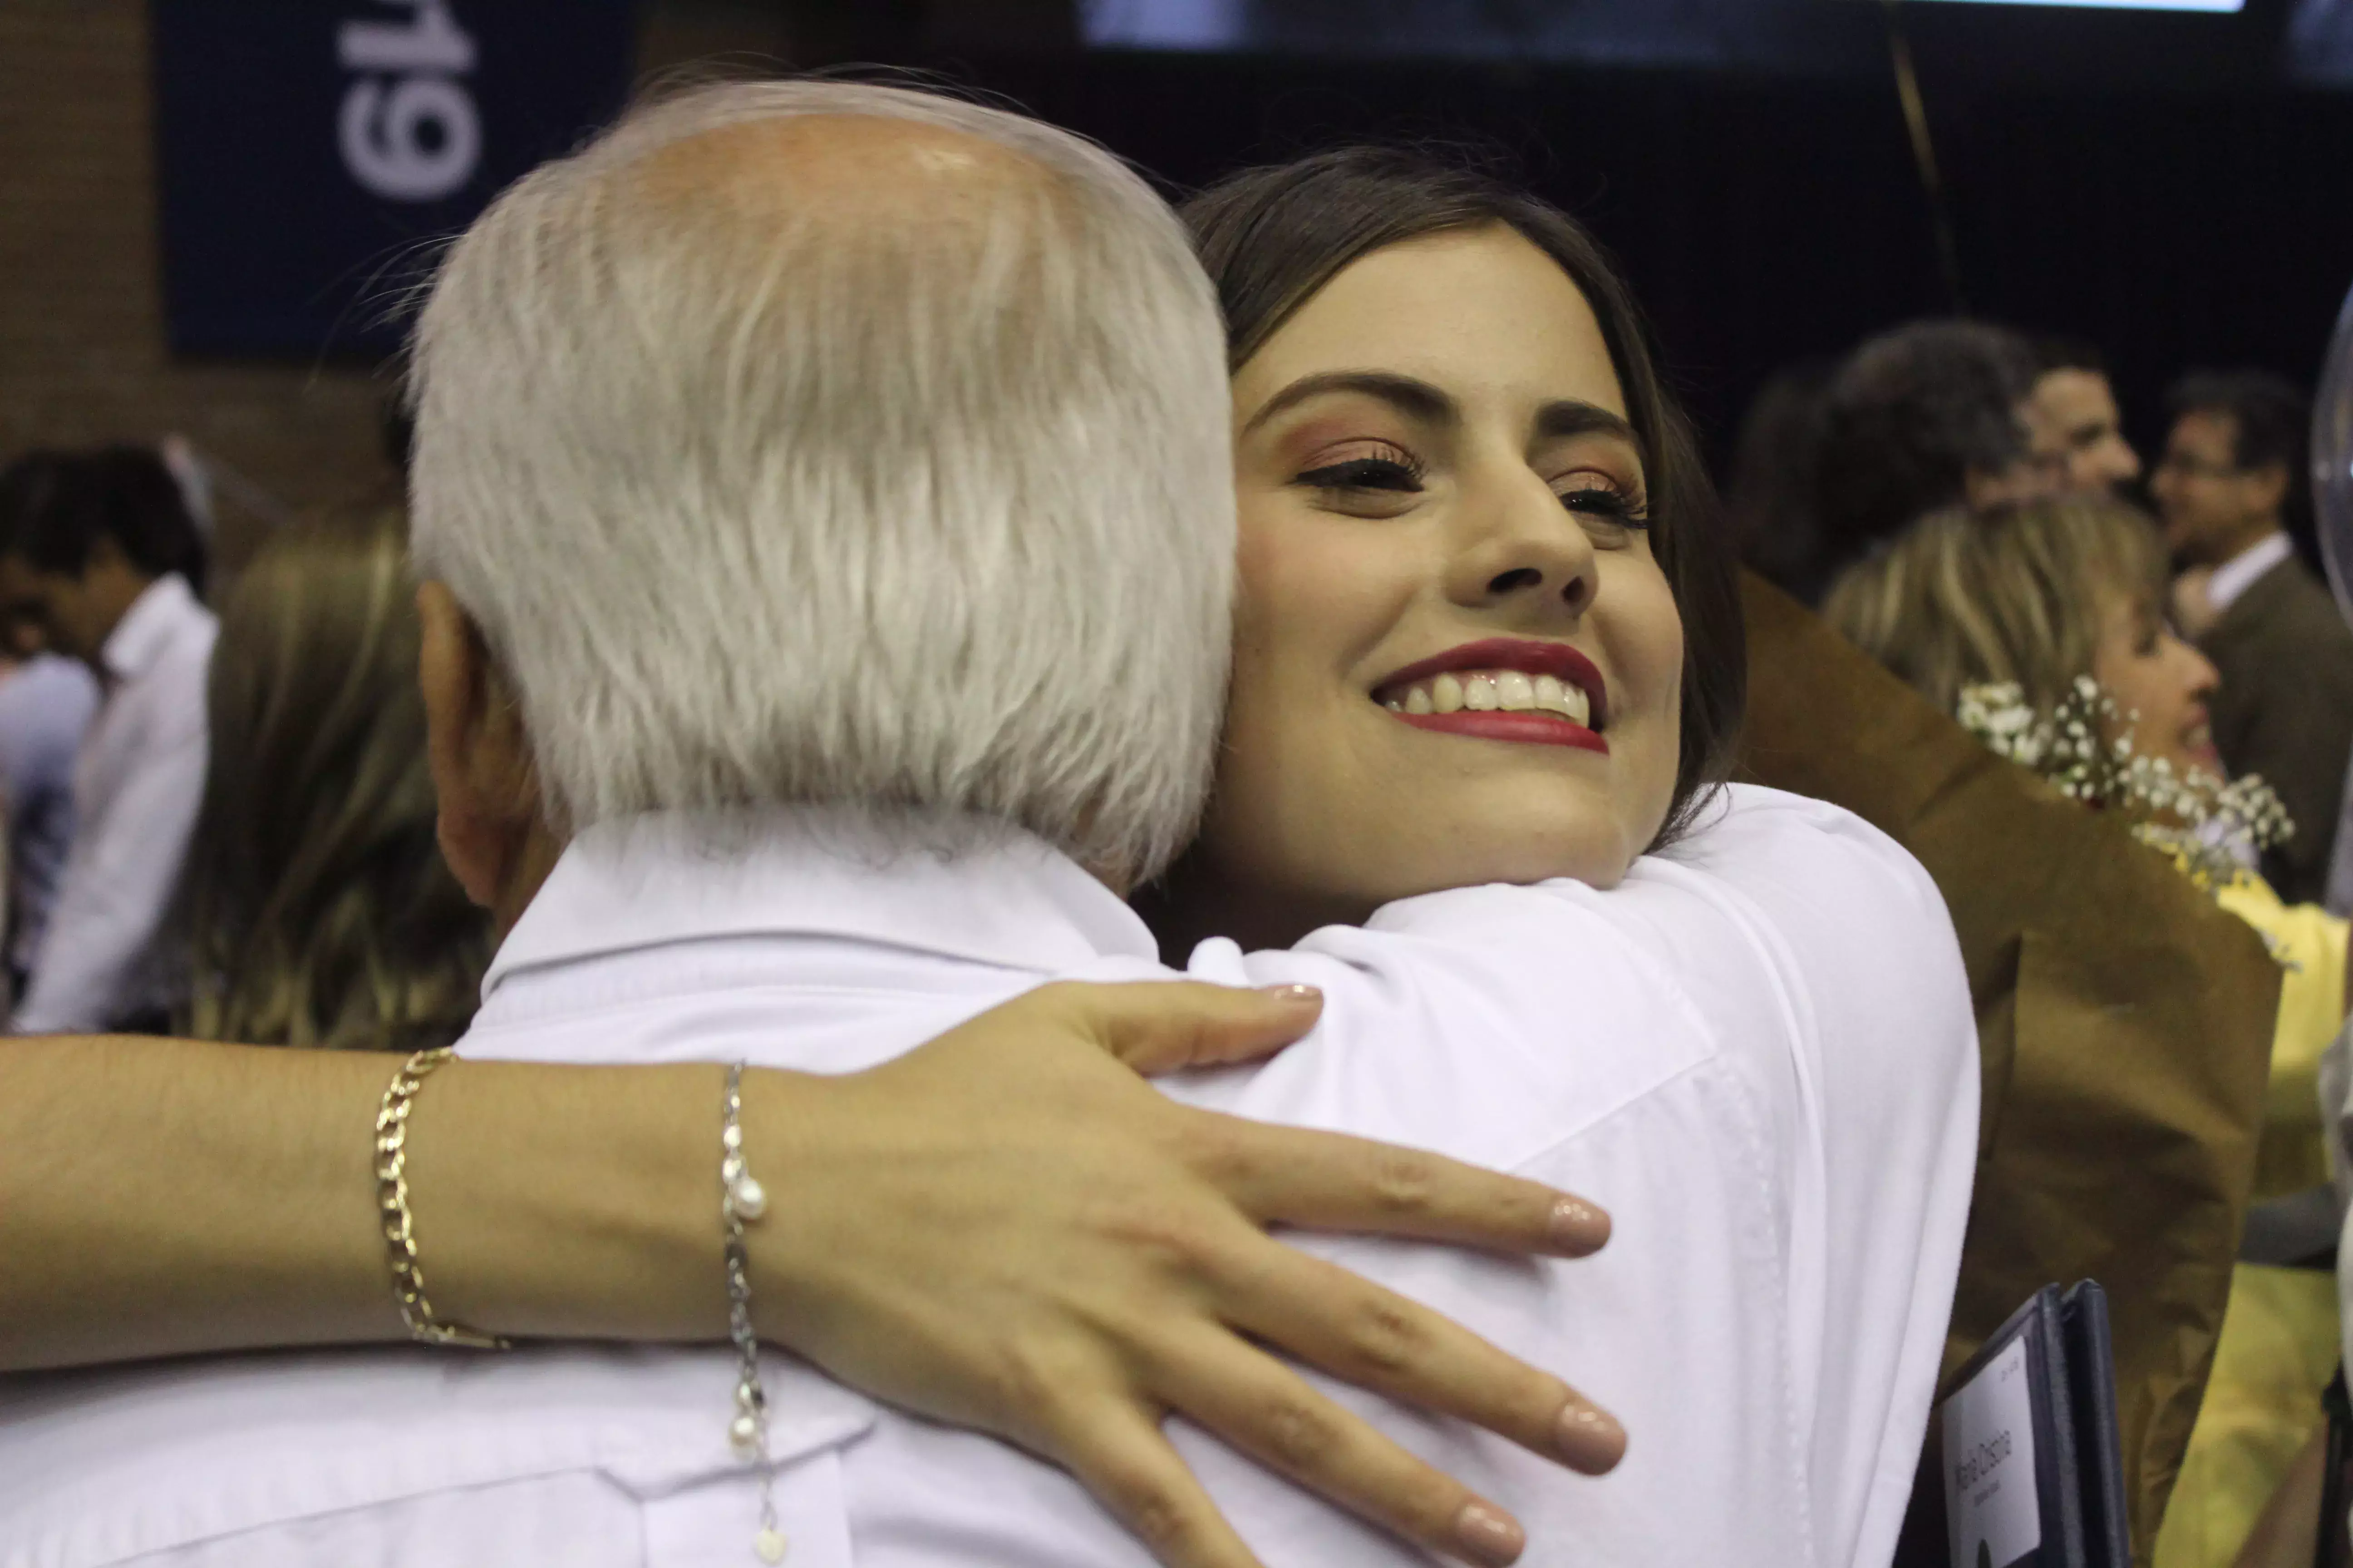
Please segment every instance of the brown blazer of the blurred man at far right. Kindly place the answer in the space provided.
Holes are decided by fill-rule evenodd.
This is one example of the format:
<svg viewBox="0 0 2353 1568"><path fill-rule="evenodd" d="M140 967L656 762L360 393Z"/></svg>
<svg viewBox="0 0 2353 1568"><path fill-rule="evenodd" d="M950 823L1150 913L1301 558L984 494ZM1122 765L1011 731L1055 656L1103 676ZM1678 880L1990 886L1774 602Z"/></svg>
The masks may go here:
<svg viewBox="0 0 2353 1568"><path fill-rule="evenodd" d="M2289 555L2231 599L2198 646L2221 689L2207 705L2231 773L2261 773L2297 835L2264 856L2287 903L2320 903L2353 755L2353 630L2311 567Z"/></svg>

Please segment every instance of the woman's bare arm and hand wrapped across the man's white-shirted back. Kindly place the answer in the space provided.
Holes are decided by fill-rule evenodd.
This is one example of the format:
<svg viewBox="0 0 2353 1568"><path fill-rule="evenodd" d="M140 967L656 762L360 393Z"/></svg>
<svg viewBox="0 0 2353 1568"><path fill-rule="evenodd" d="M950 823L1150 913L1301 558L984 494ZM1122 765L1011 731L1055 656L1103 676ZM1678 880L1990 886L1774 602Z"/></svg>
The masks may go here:
<svg viewBox="0 0 2353 1568"><path fill-rule="evenodd" d="M838 1079L746 1077L774 1197L760 1328L852 1387L1078 1474L1167 1563L1247 1549L1160 1434L1184 1410L1417 1540L1508 1561L1475 1497L1254 1345L1586 1469L1558 1378L1266 1234L1308 1225L1586 1253L1546 1187L1195 1112L1141 1072L1245 1060L1313 999L1052 985ZM367 1053L89 1037L0 1044L0 1366L400 1338ZM720 1067L452 1063L409 1121L426 1291L508 1335L725 1331ZM1581 1443L1572 1441L1581 1436ZM1485 1544L1482 1544L1485 1542Z"/></svg>

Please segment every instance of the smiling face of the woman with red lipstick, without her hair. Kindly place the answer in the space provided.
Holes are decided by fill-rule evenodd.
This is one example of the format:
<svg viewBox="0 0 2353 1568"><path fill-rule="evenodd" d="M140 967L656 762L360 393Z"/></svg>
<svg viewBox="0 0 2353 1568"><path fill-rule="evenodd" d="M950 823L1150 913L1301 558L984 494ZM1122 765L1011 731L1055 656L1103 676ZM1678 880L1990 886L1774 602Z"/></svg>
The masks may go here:
<svg viewBox="0 0 2353 1568"><path fill-rule="evenodd" d="M1228 929L1624 877L1675 788L1682 621L1567 273L1501 226L1374 252L1233 407L1233 701L1198 846Z"/></svg>

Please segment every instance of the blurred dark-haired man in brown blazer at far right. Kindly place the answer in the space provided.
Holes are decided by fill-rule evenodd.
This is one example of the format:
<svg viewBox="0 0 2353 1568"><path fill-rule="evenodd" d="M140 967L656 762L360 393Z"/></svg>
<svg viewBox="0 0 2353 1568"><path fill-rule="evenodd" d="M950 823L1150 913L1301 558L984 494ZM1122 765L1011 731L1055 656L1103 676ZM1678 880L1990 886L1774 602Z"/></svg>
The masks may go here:
<svg viewBox="0 0 2353 1568"><path fill-rule="evenodd" d="M2289 903L2318 903L2353 752L2353 630L2294 550L2304 487L2304 397L2268 371L2186 376L2148 480L2165 543L2193 569L2177 614L2221 689L2207 703L2233 776L2261 773L2294 837L2264 858Z"/></svg>

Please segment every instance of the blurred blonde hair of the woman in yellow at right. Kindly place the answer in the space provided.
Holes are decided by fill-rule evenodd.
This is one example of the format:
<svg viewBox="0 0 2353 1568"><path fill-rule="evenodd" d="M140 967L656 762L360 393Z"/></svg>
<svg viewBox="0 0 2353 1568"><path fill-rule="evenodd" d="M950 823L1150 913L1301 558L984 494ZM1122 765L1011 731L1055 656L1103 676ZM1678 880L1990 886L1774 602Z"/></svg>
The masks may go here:
<svg viewBox="0 0 2353 1568"><path fill-rule="evenodd" d="M2092 675L2101 607L2165 602L2155 524L2120 501L1932 512L1831 588L1824 618L1953 712L1962 686L2017 684L2049 712Z"/></svg>

